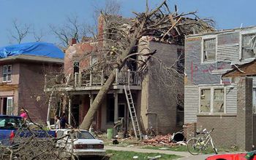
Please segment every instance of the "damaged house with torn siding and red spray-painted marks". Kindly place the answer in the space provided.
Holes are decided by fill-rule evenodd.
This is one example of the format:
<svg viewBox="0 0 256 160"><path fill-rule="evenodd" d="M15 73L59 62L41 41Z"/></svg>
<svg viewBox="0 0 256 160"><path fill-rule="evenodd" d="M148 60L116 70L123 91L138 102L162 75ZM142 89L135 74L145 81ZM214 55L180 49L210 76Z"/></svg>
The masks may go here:
<svg viewBox="0 0 256 160"><path fill-rule="evenodd" d="M256 27L187 36L184 131L214 128L217 145L256 144Z"/></svg>

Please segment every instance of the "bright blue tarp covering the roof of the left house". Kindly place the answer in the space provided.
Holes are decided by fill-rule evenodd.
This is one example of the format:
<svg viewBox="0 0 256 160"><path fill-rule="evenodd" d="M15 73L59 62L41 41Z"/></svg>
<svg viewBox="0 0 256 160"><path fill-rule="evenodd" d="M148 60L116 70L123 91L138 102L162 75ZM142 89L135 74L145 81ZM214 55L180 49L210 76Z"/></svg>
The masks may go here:
<svg viewBox="0 0 256 160"><path fill-rule="evenodd" d="M15 55L36 55L64 59L64 52L56 45L45 42L31 42L0 47L0 58Z"/></svg>

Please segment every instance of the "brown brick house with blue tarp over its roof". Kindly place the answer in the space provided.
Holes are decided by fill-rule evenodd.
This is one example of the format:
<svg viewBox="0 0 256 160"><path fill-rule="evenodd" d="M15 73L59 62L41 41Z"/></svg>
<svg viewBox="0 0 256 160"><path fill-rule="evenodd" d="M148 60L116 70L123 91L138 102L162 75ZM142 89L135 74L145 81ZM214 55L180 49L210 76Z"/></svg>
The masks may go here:
<svg viewBox="0 0 256 160"><path fill-rule="evenodd" d="M29 111L37 122L45 122L45 74L61 71L64 53L53 44L26 43L0 48L0 114Z"/></svg>

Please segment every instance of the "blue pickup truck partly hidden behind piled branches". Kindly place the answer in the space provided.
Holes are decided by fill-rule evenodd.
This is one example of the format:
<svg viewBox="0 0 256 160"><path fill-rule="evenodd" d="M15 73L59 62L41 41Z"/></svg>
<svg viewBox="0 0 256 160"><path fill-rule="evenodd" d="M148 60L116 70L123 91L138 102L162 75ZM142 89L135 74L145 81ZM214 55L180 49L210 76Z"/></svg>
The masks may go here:
<svg viewBox="0 0 256 160"><path fill-rule="evenodd" d="M20 137L29 137L32 132L36 137L56 137L56 132L53 131L23 128L21 116L0 115L0 145L13 145L12 139L18 129L22 129L22 132L18 133Z"/></svg>

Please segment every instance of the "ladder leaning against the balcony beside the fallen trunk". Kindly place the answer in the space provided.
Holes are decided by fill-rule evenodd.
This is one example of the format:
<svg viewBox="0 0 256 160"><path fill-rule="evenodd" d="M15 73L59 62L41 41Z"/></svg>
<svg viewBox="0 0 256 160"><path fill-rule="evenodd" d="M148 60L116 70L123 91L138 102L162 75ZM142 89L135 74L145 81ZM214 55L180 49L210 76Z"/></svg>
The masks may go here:
<svg viewBox="0 0 256 160"><path fill-rule="evenodd" d="M132 100L132 93L131 93L131 90L129 89L129 85L127 87L124 85L124 92L125 92L125 96L127 97L129 115L131 116L131 119L132 119L132 127L133 127L133 131L135 132L135 137L141 140L140 126L138 123L135 104L133 103L133 100Z"/></svg>

